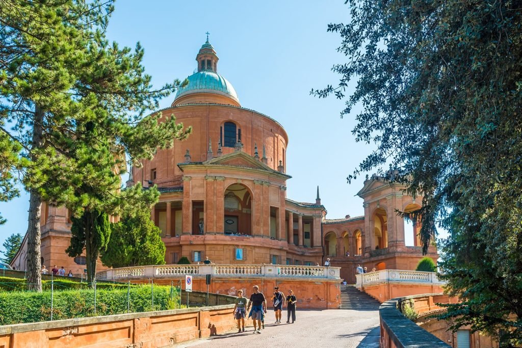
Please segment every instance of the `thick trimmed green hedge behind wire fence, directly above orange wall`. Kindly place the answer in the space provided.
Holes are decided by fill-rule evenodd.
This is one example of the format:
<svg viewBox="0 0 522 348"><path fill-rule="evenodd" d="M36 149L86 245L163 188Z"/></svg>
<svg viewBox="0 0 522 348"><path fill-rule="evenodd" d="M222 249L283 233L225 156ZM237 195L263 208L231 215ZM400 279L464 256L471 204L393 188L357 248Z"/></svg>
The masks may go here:
<svg viewBox="0 0 522 348"><path fill-rule="evenodd" d="M96 315L127 313L127 289L98 290ZM151 304L151 286L131 287L130 311L175 309L179 306L179 291L170 286L154 286L154 308ZM94 316L94 290L64 290L54 292L53 320ZM0 325L51 319L51 292L0 292Z"/></svg>

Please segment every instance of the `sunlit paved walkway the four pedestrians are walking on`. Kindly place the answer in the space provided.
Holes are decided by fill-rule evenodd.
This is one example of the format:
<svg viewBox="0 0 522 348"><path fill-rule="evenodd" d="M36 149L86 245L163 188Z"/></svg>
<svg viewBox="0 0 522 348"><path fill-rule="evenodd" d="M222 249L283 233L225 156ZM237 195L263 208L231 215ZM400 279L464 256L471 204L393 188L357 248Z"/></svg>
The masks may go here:
<svg viewBox="0 0 522 348"><path fill-rule="evenodd" d="M287 324L286 311L283 323L275 325L274 312L269 311L265 330L253 333L253 327L245 332L225 333L200 339L176 347L350 347L377 348L379 340L379 314L375 310L298 310L294 324Z"/></svg>

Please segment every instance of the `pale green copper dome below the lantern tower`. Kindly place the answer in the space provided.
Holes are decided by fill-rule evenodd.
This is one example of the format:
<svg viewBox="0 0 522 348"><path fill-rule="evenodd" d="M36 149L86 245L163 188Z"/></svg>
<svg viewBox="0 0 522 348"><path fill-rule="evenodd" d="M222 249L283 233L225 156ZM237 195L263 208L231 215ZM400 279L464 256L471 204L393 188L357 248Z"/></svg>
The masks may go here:
<svg viewBox="0 0 522 348"><path fill-rule="evenodd" d="M229 97L239 103L238 93L232 83L211 70L198 71L188 77L188 84L177 90L174 101L183 95L193 93L215 93Z"/></svg>

